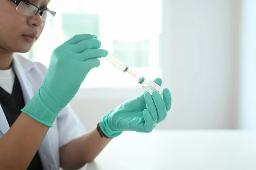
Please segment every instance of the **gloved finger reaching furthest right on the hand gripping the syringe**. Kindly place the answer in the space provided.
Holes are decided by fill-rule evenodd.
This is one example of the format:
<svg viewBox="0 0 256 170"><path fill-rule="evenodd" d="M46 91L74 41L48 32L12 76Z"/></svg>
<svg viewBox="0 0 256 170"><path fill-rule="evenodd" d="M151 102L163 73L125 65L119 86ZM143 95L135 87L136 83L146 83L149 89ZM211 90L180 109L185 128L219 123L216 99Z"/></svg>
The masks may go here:
<svg viewBox="0 0 256 170"><path fill-rule="evenodd" d="M78 54L77 59L85 61L87 59L106 57L107 55L108 51L99 48L93 48Z"/></svg>

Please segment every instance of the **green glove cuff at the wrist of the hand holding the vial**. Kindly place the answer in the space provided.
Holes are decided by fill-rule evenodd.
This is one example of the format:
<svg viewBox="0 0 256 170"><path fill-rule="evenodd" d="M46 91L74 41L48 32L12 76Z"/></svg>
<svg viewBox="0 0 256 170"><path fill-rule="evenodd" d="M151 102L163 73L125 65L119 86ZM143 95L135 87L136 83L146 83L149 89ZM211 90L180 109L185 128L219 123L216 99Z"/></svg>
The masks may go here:
<svg viewBox="0 0 256 170"><path fill-rule="evenodd" d="M105 116L102 116L102 118L100 119L100 121L99 121L100 130L108 138L114 138L116 136L119 136L122 133L122 130L112 130L111 127L109 127L109 125L107 123L107 118L108 118L108 115L105 115ZM97 130L98 130L98 128L97 128Z"/></svg>

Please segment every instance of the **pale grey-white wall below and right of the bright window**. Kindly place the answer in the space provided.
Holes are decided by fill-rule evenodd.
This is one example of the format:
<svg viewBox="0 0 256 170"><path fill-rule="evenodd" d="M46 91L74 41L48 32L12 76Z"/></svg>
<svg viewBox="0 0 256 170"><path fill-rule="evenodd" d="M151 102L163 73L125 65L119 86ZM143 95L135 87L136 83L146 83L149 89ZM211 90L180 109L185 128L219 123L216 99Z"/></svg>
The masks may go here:
<svg viewBox="0 0 256 170"><path fill-rule="evenodd" d="M240 0L163 0L161 67L172 109L161 129L234 128ZM140 89L81 89L72 106L88 130ZM122 93L122 95L120 94Z"/></svg>

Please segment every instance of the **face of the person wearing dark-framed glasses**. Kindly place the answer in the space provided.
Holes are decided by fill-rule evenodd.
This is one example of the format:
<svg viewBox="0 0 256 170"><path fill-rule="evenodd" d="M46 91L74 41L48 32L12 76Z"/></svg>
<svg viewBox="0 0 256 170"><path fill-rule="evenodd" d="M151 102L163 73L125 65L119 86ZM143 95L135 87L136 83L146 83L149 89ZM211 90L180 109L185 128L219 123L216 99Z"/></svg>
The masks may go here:
<svg viewBox="0 0 256 170"><path fill-rule="evenodd" d="M39 8L47 6L46 0L32 0L30 3ZM39 12L28 17L20 14L16 7L10 0L0 2L0 51L27 52L44 29L45 23Z"/></svg>

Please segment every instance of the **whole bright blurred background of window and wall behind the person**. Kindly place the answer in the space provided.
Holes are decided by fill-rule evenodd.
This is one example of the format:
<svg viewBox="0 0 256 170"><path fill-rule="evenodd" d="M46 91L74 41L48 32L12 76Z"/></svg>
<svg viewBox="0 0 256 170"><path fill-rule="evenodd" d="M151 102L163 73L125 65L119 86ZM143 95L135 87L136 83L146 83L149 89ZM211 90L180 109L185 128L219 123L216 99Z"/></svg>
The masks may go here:
<svg viewBox="0 0 256 170"><path fill-rule="evenodd" d="M57 14L26 57L49 66L75 34L95 34L135 73L163 79L172 109L157 129L256 129L256 0L52 0ZM87 130L142 93L106 59L71 104Z"/></svg>

